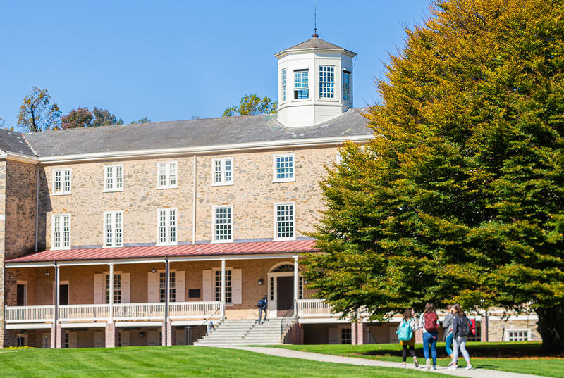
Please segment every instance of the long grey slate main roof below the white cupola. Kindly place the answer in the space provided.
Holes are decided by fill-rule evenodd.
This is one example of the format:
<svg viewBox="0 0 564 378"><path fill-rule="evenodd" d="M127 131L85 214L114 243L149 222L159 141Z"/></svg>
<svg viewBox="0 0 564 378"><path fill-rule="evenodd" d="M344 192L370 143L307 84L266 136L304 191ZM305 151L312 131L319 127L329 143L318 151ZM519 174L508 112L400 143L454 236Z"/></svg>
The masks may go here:
<svg viewBox="0 0 564 378"><path fill-rule="evenodd" d="M336 118L310 127L284 127L276 120L276 115L243 115L32 132L25 134L25 138L38 156L53 157L78 153L353 137L372 134L372 129L366 126L367 120L361 114L366 111L367 108L352 108ZM1 136L2 134L0 140ZM11 144L16 144L16 141ZM26 151L33 152L29 147Z"/></svg>

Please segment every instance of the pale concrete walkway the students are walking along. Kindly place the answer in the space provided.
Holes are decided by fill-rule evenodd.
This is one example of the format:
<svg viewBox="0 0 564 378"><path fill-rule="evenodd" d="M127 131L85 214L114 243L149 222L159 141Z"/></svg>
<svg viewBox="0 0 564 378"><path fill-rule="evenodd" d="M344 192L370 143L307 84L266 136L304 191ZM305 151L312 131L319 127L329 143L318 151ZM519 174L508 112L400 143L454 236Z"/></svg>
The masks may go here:
<svg viewBox="0 0 564 378"><path fill-rule="evenodd" d="M267 355L276 355L278 357L302 358L304 360L314 360L322 363L345 363L350 365L401 368L401 363L369 360L367 358L342 357L339 355L292 351L290 349L283 349L283 348L266 348L260 346L231 346L228 348L240 349L242 351L250 351L255 353L264 353ZM424 366L424 364L422 364L421 366ZM407 364L407 369L414 369L414 365ZM427 372L427 369L421 369L421 367L419 367L419 370ZM457 370L448 370L446 367L442 367L442 366L438 366L437 370L430 370L430 371L434 373L453 375L455 377L470 377L470 378L546 378L546 377L541 377L539 375L501 372L499 370L487 370L487 369L464 370L458 368Z"/></svg>

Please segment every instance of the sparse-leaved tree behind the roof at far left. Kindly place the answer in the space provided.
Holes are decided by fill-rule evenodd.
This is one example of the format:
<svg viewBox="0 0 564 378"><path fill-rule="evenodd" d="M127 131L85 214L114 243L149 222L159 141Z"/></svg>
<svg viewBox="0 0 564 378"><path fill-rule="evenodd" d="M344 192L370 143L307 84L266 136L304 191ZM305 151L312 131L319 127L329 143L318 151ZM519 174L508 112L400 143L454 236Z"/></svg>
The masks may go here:
<svg viewBox="0 0 564 378"><path fill-rule="evenodd" d="M18 126L30 132L44 131L58 127L60 118L59 106L51 103L47 89L32 87L20 106Z"/></svg>

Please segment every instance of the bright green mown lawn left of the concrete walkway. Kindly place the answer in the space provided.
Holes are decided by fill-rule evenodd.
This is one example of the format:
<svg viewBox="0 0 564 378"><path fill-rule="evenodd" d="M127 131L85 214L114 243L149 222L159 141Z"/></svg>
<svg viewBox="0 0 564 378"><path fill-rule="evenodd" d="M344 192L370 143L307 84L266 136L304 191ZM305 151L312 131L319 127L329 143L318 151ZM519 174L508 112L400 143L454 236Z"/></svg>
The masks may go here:
<svg viewBox="0 0 564 378"><path fill-rule="evenodd" d="M362 367L223 348L145 346L0 351L0 377L410 378L424 372Z"/></svg>

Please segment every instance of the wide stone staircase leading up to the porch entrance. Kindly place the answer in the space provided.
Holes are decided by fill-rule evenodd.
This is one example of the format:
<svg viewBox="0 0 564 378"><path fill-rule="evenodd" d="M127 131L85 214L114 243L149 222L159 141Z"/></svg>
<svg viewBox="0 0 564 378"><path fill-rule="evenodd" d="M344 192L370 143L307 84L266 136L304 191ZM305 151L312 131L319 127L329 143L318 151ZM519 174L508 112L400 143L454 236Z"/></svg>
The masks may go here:
<svg viewBox="0 0 564 378"><path fill-rule="evenodd" d="M288 324L289 323L289 324ZM256 320L226 319L213 332L196 341L197 346L273 345L283 344L283 336L293 322L284 320L284 335L281 334L281 317L273 317L259 325Z"/></svg>

